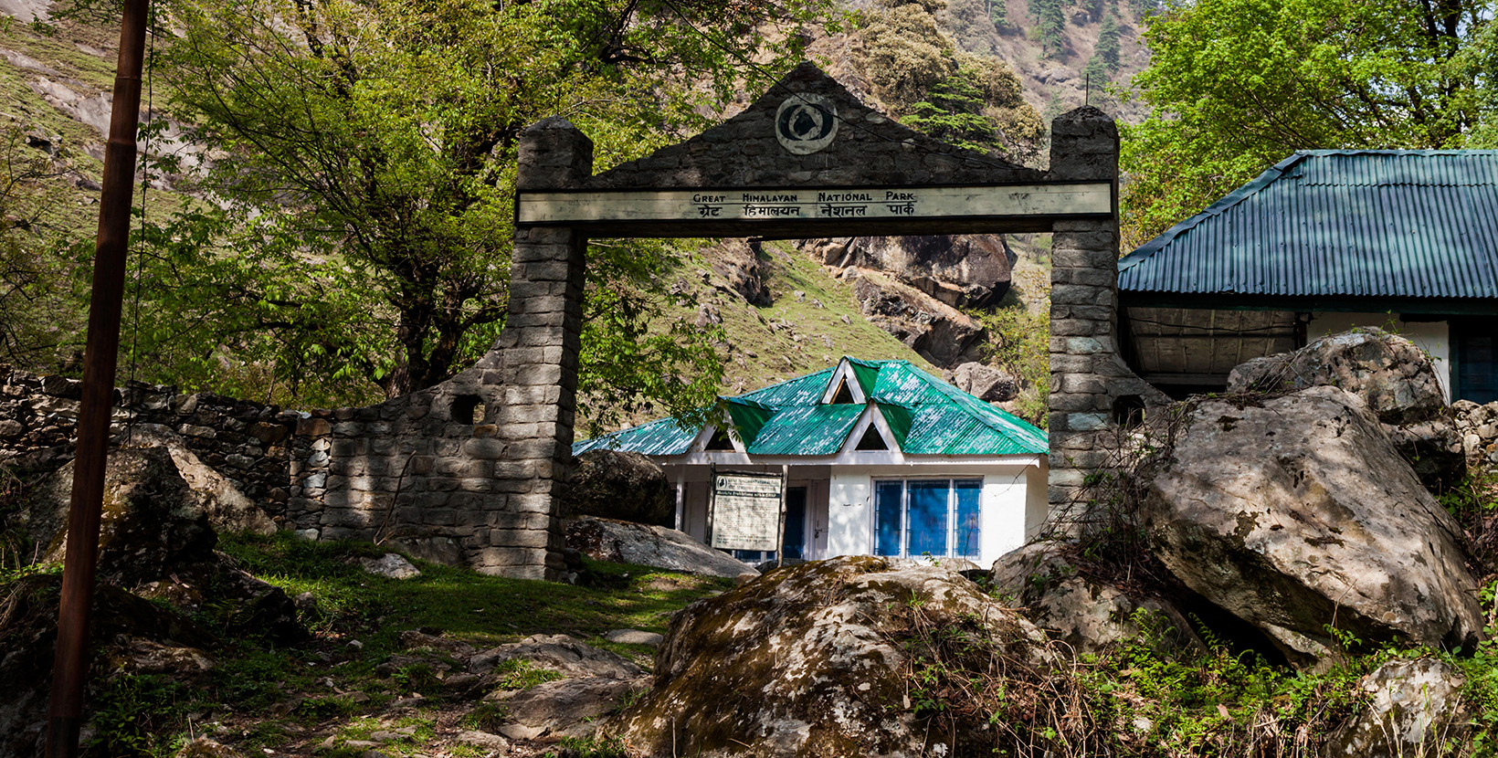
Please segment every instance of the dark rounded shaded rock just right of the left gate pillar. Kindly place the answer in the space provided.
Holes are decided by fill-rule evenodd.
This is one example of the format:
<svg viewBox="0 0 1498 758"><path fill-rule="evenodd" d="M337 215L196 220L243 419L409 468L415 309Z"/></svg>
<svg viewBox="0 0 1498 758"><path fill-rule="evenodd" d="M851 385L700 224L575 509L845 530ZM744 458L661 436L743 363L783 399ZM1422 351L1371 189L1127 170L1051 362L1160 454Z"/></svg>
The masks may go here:
<svg viewBox="0 0 1498 758"><path fill-rule="evenodd" d="M665 469L638 452L592 449L572 469L563 514L671 526L676 497Z"/></svg>

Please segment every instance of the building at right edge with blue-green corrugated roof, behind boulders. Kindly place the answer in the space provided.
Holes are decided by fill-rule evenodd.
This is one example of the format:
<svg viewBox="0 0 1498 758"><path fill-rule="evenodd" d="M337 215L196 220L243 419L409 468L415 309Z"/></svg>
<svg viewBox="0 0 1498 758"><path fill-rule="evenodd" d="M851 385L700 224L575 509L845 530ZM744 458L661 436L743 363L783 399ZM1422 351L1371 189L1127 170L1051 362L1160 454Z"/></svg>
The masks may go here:
<svg viewBox="0 0 1498 758"><path fill-rule="evenodd" d="M1296 153L1119 259L1119 309L1125 360L1177 397L1383 327L1447 400L1498 400L1498 151Z"/></svg>

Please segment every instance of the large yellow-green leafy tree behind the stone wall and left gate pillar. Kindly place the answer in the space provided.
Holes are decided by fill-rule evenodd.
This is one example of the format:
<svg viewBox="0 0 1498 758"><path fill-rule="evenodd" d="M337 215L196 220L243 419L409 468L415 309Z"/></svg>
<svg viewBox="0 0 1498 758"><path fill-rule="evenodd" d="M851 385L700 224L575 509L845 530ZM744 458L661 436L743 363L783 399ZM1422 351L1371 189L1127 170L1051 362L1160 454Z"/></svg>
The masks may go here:
<svg viewBox="0 0 1498 758"><path fill-rule="evenodd" d="M142 354L187 383L253 364L280 386L316 378L306 398L352 400L430 386L493 343L526 124L571 118L595 138L596 169L637 157L701 127L695 109L745 78L764 85L759 70L798 60L789 34L761 67L743 63L767 24L809 19L812 4L180 0L166 12L172 112L216 160L196 183L210 202L147 235ZM647 322L670 250L590 249L589 307L607 303L610 318L589 339L634 355L583 366L584 388L610 376L629 397L673 392L673 410L712 397L712 334L667 330L670 366L640 355L665 348Z"/></svg>

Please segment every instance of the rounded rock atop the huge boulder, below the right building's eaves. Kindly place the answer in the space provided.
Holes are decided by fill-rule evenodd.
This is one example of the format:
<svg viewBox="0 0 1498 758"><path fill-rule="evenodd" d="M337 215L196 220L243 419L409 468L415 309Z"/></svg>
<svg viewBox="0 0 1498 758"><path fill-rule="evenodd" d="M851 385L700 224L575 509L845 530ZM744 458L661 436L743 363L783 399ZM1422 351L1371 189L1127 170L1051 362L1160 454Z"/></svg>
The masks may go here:
<svg viewBox="0 0 1498 758"><path fill-rule="evenodd" d="M1431 358L1413 342L1378 328L1321 337L1294 352L1248 361L1228 375L1228 391L1339 386L1363 398L1384 424L1414 424L1446 407Z"/></svg>

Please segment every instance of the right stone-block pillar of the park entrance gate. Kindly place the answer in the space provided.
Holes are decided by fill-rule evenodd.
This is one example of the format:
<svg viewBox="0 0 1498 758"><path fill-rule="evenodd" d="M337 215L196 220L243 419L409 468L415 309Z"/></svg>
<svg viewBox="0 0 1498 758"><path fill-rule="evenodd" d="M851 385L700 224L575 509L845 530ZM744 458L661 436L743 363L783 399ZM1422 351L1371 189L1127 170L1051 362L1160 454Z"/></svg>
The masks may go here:
<svg viewBox="0 0 1498 758"><path fill-rule="evenodd" d="M1164 394L1134 376L1118 340L1118 126L1091 106L1052 123L1053 181L1113 183L1113 219L1053 226L1050 270L1050 508L1086 497L1089 472L1109 466L1118 439L1115 400L1156 406Z"/></svg>

